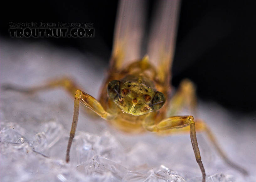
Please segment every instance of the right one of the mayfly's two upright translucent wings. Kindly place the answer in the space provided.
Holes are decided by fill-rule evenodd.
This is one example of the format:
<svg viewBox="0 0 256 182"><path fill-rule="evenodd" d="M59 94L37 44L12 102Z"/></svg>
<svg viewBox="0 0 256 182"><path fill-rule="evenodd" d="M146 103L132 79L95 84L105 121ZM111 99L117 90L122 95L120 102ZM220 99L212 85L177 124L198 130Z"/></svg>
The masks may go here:
<svg viewBox="0 0 256 182"><path fill-rule="evenodd" d="M169 84L176 42L180 0L159 1L149 34L147 54L159 81Z"/></svg>

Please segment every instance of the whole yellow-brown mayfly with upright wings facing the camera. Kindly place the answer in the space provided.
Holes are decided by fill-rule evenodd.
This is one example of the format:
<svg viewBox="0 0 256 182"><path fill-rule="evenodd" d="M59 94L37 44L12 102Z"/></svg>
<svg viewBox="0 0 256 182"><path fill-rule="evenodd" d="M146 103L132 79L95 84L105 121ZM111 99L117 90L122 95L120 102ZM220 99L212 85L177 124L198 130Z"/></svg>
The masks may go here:
<svg viewBox="0 0 256 182"><path fill-rule="evenodd" d="M8 88L31 93L62 86L75 97L66 153L67 162L70 160L70 149L81 103L125 132L150 131L159 134L172 134L180 130L190 132L195 159L200 167L203 182L206 173L196 131L205 131L225 162L246 174L246 170L227 158L205 122L194 120L193 116L175 116L183 106L195 110L195 89L190 81L183 81L175 94L170 86L180 2L179 0L159 2L147 47L142 47L143 37L147 37L143 32L145 4L145 1L136 0L122 0L119 4L110 66L99 100L80 90L80 87L68 78L53 80L31 89L22 90L14 86Z"/></svg>

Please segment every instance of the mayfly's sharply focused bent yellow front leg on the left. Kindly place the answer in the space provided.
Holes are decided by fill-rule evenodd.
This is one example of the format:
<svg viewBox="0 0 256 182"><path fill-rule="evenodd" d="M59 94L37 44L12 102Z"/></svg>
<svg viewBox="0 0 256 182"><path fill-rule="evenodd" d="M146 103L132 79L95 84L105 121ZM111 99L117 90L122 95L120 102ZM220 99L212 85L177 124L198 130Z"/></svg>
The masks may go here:
<svg viewBox="0 0 256 182"><path fill-rule="evenodd" d="M89 94L81 90L77 90L75 94L75 101L74 101L73 121L72 121L71 130L70 130L68 145L67 145L66 162L69 162L69 159L70 159L69 153L72 145L72 140L75 136L75 132L77 128L79 102L82 103L84 106L90 108L92 111L94 111L96 114L98 114L100 117L102 117L105 120L110 120L113 118L113 115L105 111L104 108L99 103L99 101L97 101L93 96L90 96Z"/></svg>

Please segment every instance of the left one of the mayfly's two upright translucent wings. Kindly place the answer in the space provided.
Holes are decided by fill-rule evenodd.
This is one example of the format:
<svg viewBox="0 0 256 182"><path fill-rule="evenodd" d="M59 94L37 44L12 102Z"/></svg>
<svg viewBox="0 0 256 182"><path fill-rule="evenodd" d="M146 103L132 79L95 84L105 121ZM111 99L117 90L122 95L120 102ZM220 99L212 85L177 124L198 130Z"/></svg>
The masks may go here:
<svg viewBox="0 0 256 182"><path fill-rule="evenodd" d="M117 13L111 67L120 69L141 57L145 1L121 0Z"/></svg>

